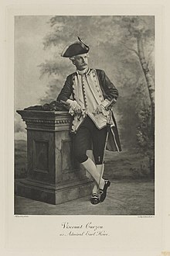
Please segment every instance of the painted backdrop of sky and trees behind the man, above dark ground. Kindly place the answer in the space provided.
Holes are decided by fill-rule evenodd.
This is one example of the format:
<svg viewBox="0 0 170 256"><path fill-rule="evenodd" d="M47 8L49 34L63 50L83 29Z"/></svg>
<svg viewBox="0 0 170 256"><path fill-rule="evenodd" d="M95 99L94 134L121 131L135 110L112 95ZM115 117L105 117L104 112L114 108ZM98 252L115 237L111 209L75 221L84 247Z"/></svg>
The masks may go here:
<svg viewBox="0 0 170 256"><path fill-rule="evenodd" d="M147 155L153 169L154 16L15 16L15 110L56 99L74 71L60 54L77 36L90 46L90 67L104 69L119 91L123 150ZM26 140L25 127L15 112L15 140Z"/></svg>

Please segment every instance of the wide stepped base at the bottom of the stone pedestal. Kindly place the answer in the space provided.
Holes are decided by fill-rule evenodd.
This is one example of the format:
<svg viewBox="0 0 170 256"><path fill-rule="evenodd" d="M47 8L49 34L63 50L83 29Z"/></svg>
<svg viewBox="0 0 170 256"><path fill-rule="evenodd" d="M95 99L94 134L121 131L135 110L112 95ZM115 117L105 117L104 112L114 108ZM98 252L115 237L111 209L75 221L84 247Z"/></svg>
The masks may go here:
<svg viewBox="0 0 170 256"><path fill-rule="evenodd" d="M91 195L92 188L93 182L87 178L56 186L33 182L28 179L15 181L16 195L54 205Z"/></svg>

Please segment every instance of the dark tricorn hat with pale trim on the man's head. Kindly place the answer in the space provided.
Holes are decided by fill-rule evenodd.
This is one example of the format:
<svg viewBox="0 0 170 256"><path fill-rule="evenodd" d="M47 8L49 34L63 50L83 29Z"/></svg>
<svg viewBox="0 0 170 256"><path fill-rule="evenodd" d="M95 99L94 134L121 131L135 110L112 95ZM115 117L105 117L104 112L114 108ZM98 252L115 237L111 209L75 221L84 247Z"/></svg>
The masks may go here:
<svg viewBox="0 0 170 256"><path fill-rule="evenodd" d="M78 41L79 40L79 41ZM83 43L82 40L80 40L80 37L78 37L78 40L76 42L70 43L67 45L61 56L62 57L73 57L78 54L87 54L89 51L89 47L87 44Z"/></svg>

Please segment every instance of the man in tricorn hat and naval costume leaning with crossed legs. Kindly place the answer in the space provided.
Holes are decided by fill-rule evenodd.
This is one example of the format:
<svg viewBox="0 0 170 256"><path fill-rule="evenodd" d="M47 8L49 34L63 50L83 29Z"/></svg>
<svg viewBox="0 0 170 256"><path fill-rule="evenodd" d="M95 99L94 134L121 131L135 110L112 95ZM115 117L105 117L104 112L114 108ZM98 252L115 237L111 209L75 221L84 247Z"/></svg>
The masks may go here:
<svg viewBox="0 0 170 256"><path fill-rule="evenodd" d="M61 54L76 66L76 72L66 78L57 100L69 106L73 116L71 132L74 133L76 160L94 178L90 202L103 202L110 181L104 180L104 150L121 151L112 106L117 102L117 88L103 70L88 67L89 47L78 38L66 46ZM108 125L110 129L108 130ZM87 157L92 144L94 162Z"/></svg>

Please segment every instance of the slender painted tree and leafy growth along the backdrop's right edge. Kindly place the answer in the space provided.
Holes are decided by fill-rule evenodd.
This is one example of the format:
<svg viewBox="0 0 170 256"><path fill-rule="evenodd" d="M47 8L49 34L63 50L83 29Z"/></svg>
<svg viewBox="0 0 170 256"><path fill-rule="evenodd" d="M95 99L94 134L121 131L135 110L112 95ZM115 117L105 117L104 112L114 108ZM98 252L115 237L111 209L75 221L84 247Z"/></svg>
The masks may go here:
<svg viewBox="0 0 170 256"><path fill-rule="evenodd" d="M123 45L132 51L141 65L141 70L145 78L145 82L141 82L137 86L136 108L138 111L137 140L143 153L148 155L151 175L154 174L154 140L155 140L155 81L154 67L151 62L151 54L154 49L154 17L123 17L121 18L121 26L124 31ZM150 71L151 67L151 71ZM148 91L146 95L145 86ZM141 96L142 95L142 96ZM148 96L150 104L147 104ZM140 100L141 99L141 100ZM138 104L141 104L138 106ZM137 113L136 111L136 113Z"/></svg>

